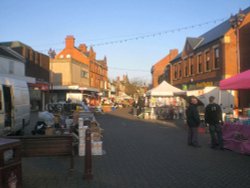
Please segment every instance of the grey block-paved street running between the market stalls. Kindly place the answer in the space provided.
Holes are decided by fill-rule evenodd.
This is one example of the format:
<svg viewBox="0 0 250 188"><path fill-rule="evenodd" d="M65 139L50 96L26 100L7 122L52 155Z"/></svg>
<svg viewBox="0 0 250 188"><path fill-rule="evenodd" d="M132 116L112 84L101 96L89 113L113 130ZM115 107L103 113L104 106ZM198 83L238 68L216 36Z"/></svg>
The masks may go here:
<svg viewBox="0 0 250 188"><path fill-rule="evenodd" d="M250 157L186 144L181 122L139 120L127 109L97 115L104 129L105 155L93 157L94 179L83 180L84 157L22 160L24 188L249 188Z"/></svg>

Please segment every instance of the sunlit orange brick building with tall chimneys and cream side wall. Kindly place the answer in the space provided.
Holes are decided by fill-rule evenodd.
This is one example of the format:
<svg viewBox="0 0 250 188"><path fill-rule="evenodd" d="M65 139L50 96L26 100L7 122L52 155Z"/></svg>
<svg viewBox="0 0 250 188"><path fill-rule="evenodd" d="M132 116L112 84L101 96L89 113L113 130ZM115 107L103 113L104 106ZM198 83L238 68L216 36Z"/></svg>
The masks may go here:
<svg viewBox="0 0 250 188"><path fill-rule="evenodd" d="M67 36L65 48L50 59L54 101L66 100L66 93L97 94L107 90L107 60L97 60L85 44L75 47L74 36Z"/></svg>

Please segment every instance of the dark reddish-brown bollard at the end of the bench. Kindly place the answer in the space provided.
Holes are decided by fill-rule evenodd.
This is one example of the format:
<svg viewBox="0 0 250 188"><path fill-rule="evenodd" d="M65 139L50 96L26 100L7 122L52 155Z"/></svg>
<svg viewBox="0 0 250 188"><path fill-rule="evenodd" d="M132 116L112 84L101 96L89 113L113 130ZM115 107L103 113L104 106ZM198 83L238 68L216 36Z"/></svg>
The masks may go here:
<svg viewBox="0 0 250 188"><path fill-rule="evenodd" d="M93 179L92 174L92 153L91 153L91 131L88 128L86 130L86 150L85 150L85 169L83 179Z"/></svg>

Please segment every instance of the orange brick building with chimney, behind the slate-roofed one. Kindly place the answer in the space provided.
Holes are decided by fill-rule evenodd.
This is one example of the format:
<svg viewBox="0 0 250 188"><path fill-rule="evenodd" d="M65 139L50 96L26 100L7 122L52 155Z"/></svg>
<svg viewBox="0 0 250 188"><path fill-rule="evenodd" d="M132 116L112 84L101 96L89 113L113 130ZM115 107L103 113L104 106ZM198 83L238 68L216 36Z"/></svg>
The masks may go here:
<svg viewBox="0 0 250 188"><path fill-rule="evenodd" d="M152 87L158 86L163 80L165 80L164 69L169 62L178 55L178 50L173 49L169 51L169 54L163 59L155 63L151 68L152 74Z"/></svg>

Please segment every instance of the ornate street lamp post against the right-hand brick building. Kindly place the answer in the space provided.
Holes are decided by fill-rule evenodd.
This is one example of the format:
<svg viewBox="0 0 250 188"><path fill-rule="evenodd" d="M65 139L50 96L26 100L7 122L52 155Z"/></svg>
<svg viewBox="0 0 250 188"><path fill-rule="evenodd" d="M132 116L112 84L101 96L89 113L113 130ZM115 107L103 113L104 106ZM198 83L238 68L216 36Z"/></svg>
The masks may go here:
<svg viewBox="0 0 250 188"><path fill-rule="evenodd" d="M239 13L236 15L231 15L229 21L231 24L231 27L235 30L235 35L236 35L236 56L237 56L237 72L240 73L240 46L239 46L239 28L240 25L242 24L243 20L245 18L245 14L242 12L242 10L239 10Z"/></svg>

